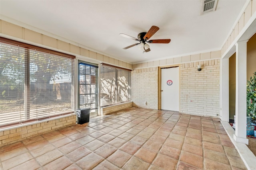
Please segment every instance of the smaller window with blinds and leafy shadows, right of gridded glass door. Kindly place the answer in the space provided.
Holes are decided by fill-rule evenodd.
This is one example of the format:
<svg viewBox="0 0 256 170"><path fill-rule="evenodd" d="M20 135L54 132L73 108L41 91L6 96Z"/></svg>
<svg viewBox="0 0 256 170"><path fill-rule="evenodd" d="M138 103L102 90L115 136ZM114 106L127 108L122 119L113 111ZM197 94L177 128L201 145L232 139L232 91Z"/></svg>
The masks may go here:
<svg viewBox="0 0 256 170"><path fill-rule="evenodd" d="M130 101L130 77L130 70L102 64L100 72L101 106Z"/></svg>

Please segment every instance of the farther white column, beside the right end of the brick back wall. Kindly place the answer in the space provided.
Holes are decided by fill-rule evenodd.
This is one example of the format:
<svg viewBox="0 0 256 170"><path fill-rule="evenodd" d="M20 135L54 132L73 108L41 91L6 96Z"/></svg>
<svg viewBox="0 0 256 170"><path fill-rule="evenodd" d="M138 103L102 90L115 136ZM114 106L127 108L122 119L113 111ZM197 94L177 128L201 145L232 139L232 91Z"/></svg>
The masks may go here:
<svg viewBox="0 0 256 170"><path fill-rule="evenodd" d="M229 59L221 59L220 75L220 119L229 122Z"/></svg>

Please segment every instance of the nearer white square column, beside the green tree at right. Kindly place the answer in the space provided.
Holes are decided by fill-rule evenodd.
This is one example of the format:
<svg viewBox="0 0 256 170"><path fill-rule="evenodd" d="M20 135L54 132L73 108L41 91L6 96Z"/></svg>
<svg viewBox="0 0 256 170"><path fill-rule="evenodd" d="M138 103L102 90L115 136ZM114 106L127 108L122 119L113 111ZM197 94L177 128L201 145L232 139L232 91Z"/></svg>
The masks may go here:
<svg viewBox="0 0 256 170"><path fill-rule="evenodd" d="M246 139L246 58L247 41L236 43L236 131L234 140L245 143Z"/></svg>

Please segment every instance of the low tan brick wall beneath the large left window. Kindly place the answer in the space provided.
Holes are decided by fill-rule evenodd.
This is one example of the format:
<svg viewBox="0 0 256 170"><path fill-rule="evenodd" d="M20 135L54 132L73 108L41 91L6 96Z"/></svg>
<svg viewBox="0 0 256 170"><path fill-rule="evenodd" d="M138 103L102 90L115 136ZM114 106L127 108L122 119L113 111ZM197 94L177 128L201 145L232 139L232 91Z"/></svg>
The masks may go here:
<svg viewBox="0 0 256 170"><path fill-rule="evenodd" d="M56 120L0 131L0 147L74 124L76 124L76 115L70 115Z"/></svg>

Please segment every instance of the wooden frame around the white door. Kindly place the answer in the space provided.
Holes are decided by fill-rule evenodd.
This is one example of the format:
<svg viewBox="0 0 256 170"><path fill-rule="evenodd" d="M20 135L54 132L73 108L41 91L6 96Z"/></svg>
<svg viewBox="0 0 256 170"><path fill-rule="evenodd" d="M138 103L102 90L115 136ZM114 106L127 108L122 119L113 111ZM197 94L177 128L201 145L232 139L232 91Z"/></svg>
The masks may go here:
<svg viewBox="0 0 256 170"><path fill-rule="evenodd" d="M179 100L180 100L180 64L173 64L167 66L158 66L158 110L161 110L161 86L162 86L162 72L161 68L172 68L172 67L179 67ZM179 101L179 110L180 110L180 101Z"/></svg>

